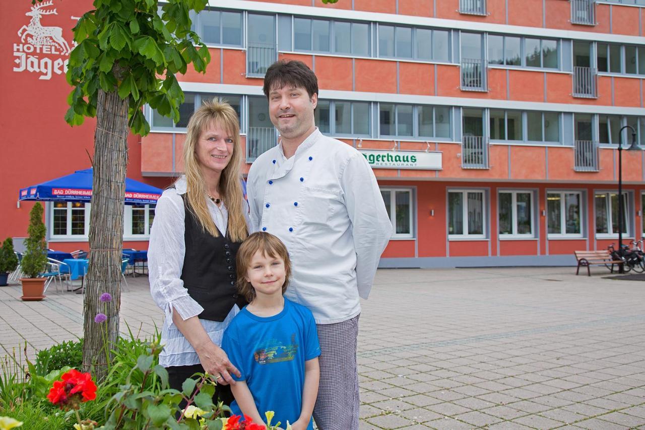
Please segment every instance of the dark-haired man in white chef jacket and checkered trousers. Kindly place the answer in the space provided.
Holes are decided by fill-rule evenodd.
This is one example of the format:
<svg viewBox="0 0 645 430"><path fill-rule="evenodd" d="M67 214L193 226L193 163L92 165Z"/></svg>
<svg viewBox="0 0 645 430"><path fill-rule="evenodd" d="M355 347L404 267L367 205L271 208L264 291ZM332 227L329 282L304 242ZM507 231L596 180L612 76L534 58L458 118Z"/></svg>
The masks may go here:
<svg viewBox="0 0 645 430"><path fill-rule="evenodd" d="M277 61L266 71L263 90L281 139L248 174L253 229L283 240L293 263L286 296L316 320L318 428L357 430L359 297L370 293L392 224L364 156L315 127L312 70L301 61Z"/></svg>

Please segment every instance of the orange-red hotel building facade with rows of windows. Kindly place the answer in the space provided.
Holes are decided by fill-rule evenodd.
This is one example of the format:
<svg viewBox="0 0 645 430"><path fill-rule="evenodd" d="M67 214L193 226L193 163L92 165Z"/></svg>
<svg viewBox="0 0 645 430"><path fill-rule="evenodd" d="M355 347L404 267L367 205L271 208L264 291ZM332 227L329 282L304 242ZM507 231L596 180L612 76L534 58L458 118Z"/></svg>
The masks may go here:
<svg viewBox="0 0 645 430"><path fill-rule="evenodd" d="M55 2L58 15L79 7L69 3ZM145 108L152 132L130 138L131 178L164 187L181 174L186 122L212 97L239 113L248 172L278 139L264 71L276 59L299 59L319 79L318 127L361 151L381 186L393 223L382 267L570 265L575 250L617 242L617 147L631 143L630 129L620 129L631 126L645 148L644 0L210 5L194 17L210 48L208 70L181 78L178 123ZM0 55L14 58L3 85L5 75L14 79L5 89L19 106L3 103L0 121L11 139L48 141L2 149L13 176L0 189L0 236L24 236L30 205L16 207L17 189L88 167L93 129L91 121L64 125L64 79L32 71L64 54L41 54L28 70L34 53L16 31L29 8L2 7L10 13L0 18L8 35ZM39 94L51 105L45 114L34 111ZM34 115L52 119L25 127ZM43 158L35 170L19 169L30 148ZM622 150L622 181L627 243L645 233L643 150ZM79 247L79 216L87 223L89 210L48 203L50 247ZM126 210L126 243L146 247L152 218L153 207Z"/></svg>

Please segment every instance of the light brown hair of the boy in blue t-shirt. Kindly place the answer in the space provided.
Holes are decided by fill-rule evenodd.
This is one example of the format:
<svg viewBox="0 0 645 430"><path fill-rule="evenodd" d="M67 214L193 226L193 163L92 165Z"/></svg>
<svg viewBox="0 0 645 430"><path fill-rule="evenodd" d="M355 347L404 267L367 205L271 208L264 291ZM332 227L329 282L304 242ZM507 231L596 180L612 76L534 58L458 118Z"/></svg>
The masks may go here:
<svg viewBox="0 0 645 430"><path fill-rule="evenodd" d="M235 266L237 269L237 290L244 296L247 302L253 302L255 299L255 289L250 282L246 279L246 272L251 265L251 260L255 252L262 251L265 256L271 258L282 258L284 261L284 283L283 294L286 287L289 285L289 278L291 276L291 260L289 260L289 252L286 246L273 234L259 231L253 233L240 245L237 250Z"/></svg>

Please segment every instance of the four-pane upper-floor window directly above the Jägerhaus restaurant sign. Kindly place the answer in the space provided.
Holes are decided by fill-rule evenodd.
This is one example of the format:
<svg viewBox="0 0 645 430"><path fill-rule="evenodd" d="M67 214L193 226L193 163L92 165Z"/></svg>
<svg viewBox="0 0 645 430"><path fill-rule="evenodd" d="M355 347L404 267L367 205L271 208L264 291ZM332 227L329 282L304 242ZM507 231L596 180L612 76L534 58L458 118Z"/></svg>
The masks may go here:
<svg viewBox="0 0 645 430"><path fill-rule="evenodd" d="M380 103L379 136L450 138L450 108Z"/></svg>

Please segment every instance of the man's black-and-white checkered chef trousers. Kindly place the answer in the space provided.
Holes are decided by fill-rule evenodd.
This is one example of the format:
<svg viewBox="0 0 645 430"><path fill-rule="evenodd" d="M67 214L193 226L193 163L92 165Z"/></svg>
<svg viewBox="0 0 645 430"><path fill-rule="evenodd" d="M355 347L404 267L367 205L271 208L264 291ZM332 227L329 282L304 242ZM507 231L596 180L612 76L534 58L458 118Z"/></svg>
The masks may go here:
<svg viewBox="0 0 645 430"><path fill-rule="evenodd" d="M321 380L313 419L320 430L359 429L359 316L339 323L316 324L321 343Z"/></svg>

